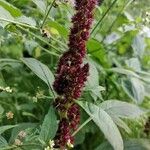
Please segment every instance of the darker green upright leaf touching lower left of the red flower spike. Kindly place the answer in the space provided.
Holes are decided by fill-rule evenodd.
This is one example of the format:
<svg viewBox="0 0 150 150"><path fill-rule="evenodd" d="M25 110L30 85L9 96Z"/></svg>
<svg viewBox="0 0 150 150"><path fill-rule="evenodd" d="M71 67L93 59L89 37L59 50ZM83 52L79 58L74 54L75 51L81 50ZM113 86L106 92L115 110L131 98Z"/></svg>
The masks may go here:
<svg viewBox="0 0 150 150"><path fill-rule="evenodd" d="M54 109L51 107L44 118L39 139L47 143L50 139L54 138L57 129L57 117Z"/></svg>

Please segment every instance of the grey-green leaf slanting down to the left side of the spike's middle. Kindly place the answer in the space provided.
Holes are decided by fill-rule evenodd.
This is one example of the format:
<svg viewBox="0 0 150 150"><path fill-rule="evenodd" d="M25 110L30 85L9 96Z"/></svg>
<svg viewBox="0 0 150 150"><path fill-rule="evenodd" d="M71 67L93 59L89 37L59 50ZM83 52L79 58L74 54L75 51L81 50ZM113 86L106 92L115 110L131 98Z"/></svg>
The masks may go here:
<svg viewBox="0 0 150 150"><path fill-rule="evenodd" d="M50 89L54 82L54 75L49 68L34 58L22 58L25 63L40 79L42 79Z"/></svg>

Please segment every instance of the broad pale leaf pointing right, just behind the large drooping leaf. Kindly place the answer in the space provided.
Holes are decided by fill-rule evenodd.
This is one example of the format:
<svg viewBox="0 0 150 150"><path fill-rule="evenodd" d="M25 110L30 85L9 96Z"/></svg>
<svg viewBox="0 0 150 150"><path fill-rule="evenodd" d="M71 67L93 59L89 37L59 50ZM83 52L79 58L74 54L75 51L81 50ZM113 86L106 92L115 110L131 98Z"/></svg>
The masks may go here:
<svg viewBox="0 0 150 150"><path fill-rule="evenodd" d="M100 104L100 108L112 117L136 118L145 113L141 108L134 104L117 100L104 101Z"/></svg>

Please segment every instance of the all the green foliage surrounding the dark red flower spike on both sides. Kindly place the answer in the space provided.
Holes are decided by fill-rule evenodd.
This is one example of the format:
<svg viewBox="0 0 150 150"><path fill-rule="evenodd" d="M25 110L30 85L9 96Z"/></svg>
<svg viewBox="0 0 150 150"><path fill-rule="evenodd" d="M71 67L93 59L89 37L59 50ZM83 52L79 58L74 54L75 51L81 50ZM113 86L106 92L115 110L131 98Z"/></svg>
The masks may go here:
<svg viewBox="0 0 150 150"><path fill-rule="evenodd" d="M51 149L58 124L51 85L67 50L71 2L0 0L0 149ZM150 149L149 7L149 0L97 6L74 149Z"/></svg>

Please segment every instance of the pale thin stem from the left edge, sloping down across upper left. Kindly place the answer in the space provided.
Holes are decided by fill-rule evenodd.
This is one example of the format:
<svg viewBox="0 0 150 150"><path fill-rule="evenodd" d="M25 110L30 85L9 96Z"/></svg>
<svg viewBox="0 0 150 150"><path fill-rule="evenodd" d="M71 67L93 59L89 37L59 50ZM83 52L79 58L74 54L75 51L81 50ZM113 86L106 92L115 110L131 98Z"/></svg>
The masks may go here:
<svg viewBox="0 0 150 150"><path fill-rule="evenodd" d="M5 18L1 18L1 17L0 17L0 20L1 21L5 21L5 22L10 22L10 23L13 23L13 24L16 24L16 25L28 27L28 28L31 28L31 29L38 30L38 28L35 27L35 26L31 26L31 25L28 25L28 24L25 24L25 23L14 21L14 20L9 20L9 19L5 19Z"/></svg>

